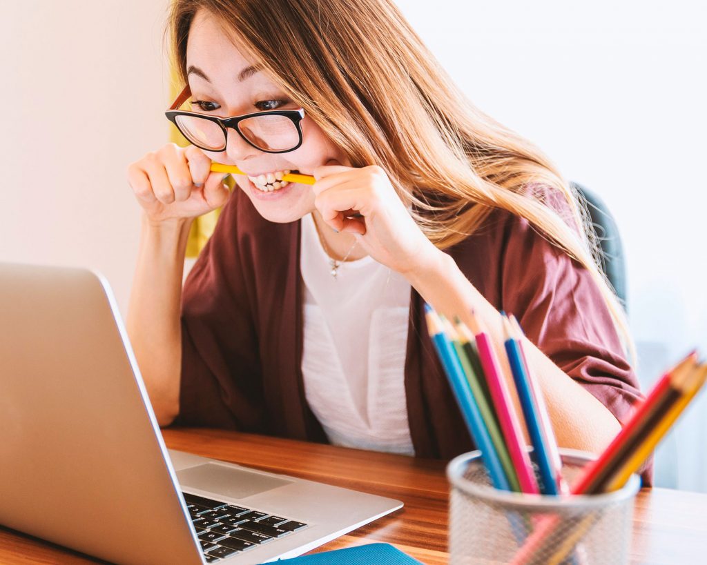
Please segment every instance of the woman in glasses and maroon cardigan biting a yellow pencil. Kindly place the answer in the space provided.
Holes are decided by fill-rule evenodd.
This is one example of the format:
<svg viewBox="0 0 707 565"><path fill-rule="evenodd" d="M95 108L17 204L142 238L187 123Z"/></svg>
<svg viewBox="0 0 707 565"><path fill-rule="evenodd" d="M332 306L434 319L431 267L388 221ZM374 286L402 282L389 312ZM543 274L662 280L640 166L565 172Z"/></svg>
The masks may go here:
<svg viewBox="0 0 707 565"><path fill-rule="evenodd" d="M498 341L515 314L559 444L604 448L640 393L575 196L390 1L176 0L170 28L186 109L248 117L224 135L173 114L201 148L129 167L144 222L128 330L160 424L466 451L426 301L473 309ZM233 194L212 160L248 175ZM292 171L317 182L280 182ZM191 220L223 205L182 293Z"/></svg>

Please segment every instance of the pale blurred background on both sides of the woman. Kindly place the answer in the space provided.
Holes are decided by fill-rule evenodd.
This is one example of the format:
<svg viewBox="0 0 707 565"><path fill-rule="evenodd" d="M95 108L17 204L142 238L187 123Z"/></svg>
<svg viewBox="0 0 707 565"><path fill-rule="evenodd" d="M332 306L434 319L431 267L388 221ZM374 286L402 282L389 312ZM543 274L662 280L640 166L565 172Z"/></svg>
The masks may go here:
<svg viewBox="0 0 707 565"><path fill-rule="evenodd" d="M126 169L169 136L168 4L0 0L0 261L98 269L123 315L139 235ZM607 203L644 388L707 352L707 4L397 4L477 106ZM707 492L706 408L660 446L658 486Z"/></svg>

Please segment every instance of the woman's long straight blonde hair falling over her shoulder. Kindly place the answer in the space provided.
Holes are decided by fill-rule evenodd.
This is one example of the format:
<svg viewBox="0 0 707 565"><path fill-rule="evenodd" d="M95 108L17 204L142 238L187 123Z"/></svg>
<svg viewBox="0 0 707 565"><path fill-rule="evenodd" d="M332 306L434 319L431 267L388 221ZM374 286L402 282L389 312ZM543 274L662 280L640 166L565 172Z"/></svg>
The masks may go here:
<svg viewBox="0 0 707 565"><path fill-rule="evenodd" d="M440 249L467 238L494 208L527 219L591 273L635 358L584 203L538 148L460 93L392 1L174 0L168 31L184 83L189 27L200 9L355 167L385 169ZM532 186L563 195L571 218Z"/></svg>

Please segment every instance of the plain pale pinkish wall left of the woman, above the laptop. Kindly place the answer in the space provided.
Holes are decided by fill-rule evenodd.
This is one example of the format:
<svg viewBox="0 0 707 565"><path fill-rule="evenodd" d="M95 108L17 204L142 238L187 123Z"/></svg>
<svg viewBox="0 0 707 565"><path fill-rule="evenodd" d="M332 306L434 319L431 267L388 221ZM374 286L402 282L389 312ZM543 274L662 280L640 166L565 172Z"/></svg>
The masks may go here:
<svg viewBox="0 0 707 565"><path fill-rule="evenodd" d="M168 0L0 0L0 261L90 266L127 311L130 162L165 143Z"/></svg>

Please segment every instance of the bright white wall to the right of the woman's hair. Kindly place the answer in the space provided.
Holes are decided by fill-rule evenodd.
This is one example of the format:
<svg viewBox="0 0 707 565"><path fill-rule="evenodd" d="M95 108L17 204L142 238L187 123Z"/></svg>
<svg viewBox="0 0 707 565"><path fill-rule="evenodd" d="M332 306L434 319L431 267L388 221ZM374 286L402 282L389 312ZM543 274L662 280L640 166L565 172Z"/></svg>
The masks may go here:
<svg viewBox="0 0 707 565"><path fill-rule="evenodd" d="M477 106L614 213L644 386L707 352L707 5L399 0ZM707 491L707 399L658 452L658 484Z"/></svg>

